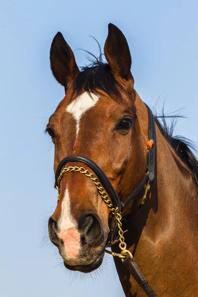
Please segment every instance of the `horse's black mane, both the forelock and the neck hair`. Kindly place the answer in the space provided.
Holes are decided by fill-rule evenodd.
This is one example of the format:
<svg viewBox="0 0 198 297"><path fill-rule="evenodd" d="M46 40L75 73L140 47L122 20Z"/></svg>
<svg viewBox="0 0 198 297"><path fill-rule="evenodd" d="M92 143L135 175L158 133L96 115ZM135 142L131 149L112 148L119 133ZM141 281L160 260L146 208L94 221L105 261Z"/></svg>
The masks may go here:
<svg viewBox="0 0 198 297"><path fill-rule="evenodd" d="M93 37L94 38L94 37ZM95 38L94 38L95 39ZM100 95L100 90L110 96L116 102L123 102L120 90L122 90L127 96L128 93L122 87L122 85L115 79L111 73L108 63L103 61L104 54L102 53L99 42L95 39L99 47L99 56L90 51L85 51L88 56L90 64L85 67L80 67L81 72L73 81L73 93L77 93L79 96L83 91ZM155 112L156 113L156 112ZM198 184L198 159L192 152L192 149L196 151L196 146L188 138L182 136L173 136L174 128L177 123L177 119L180 115L165 115L164 106L162 108L161 115L155 115L155 122L161 132L161 134L167 139L172 148L176 151L181 160L188 165L195 175L195 180ZM167 119L171 119L170 124L167 123Z"/></svg>

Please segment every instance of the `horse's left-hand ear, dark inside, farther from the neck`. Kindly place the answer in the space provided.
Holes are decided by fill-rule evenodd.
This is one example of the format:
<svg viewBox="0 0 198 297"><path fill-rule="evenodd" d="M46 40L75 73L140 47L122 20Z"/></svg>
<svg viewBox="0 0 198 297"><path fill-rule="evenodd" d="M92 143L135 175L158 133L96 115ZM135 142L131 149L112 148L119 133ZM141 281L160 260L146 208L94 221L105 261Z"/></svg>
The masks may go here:
<svg viewBox="0 0 198 297"><path fill-rule="evenodd" d="M79 73L79 69L72 49L60 32L51 43L50 64L53 76L66 90L71 80Z"/></svg>

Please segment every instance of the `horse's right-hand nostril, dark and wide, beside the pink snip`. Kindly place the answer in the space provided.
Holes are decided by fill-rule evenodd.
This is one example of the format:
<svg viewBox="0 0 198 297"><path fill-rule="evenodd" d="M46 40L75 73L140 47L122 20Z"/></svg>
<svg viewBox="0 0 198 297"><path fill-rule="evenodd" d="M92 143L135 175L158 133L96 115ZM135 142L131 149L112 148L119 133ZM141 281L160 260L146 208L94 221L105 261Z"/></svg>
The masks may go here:
<svg viewBox="0 0 198 297"><path fill-rule="evenodd" d="M97 244L103 235L101 221L96 214L88 214L81 219L81 239L86 244ZM102 240L103 241L103 240Z"/></svg>

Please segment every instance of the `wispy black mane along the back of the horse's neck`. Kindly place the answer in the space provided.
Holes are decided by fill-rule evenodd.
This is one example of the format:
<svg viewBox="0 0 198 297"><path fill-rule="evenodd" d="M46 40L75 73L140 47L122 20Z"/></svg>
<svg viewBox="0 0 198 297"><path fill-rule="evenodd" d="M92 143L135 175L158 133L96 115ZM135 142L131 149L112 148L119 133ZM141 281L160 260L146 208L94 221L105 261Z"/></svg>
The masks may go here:
<svg viewBox="0 0 198 297"><path fill-rule="evenodd" d="M161 134L166 138L169 144L174 148L180 159L188 165L195 175L195 180L198 184L198 159L192 152L192 149L196 151L195 144L188 138L183 136L173 136L175 126L178 118L181 115L165 115L164 106L162 107L161 115L156 115L155 111L155 123L157 124ZM170 119L170 123L167 123L167 119Z"/></svg>

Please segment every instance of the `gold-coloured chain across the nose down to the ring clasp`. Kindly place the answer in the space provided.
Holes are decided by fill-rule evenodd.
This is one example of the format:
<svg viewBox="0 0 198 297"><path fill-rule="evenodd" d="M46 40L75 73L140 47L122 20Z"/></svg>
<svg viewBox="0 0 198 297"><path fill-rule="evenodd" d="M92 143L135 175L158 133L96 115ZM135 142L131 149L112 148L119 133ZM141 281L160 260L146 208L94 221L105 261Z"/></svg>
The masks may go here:
<svg viewBox="0 0 198 297"><path fill-rule="evenodd" d="M105 250L107 253L110 253L112 254L113 256L117 256L119 258L121 258L121 260L123 261L125 258L126 258L126 255L127 253L131 256L131 252L127 249L127 245L126 243L124 242L125 239L124 239L124 231L122 230L122 223L121 223L121 220L122 220L122 214L121 214L121 210L117 207L117 208L114 208L113 207L113 204L111 203L111 200L108 198L106 192L104 191L104 189L102 188L100 182L98 181L97 177L94 177L94 175L92 173L90 173L88 170L85 170L85 168L83 167L77 167L77 166L69 166L69 167L65 167L62 169L62 171L60 172L60 175L57 179L57 186L56 186L56 189L58 191L58 200L60 199L60 182L63 178L63 175L67 172L80 172L82 174L84 174L85 176L89 177L89 179L91 179L97 190L98 190L98 193L100 195L100 197L102 198L102 200L104 201L104 203L108 206L108 208L110 209L111 213L116 216L116 220L117 220L117 224L118 224L118 234L119 234L119 248L121 249L121 252L120 253L115 253L113 251L109 251L109 250Z"/></svg>

